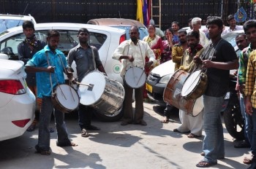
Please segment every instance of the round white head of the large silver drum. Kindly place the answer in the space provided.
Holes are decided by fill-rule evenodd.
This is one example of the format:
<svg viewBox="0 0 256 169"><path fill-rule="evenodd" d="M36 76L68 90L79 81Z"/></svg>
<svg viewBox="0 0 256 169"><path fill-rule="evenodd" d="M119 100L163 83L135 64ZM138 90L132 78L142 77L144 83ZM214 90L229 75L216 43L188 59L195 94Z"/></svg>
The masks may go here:
<svg viewBox="0 0 256 169"><path fill-rule="evenodd" d="M80 103L86 106L96 103L101 98L106 85L105 76L99 71L91 71L80 83L82 83L78 87ZM83 84L90 84L91 87Z"/></svg>

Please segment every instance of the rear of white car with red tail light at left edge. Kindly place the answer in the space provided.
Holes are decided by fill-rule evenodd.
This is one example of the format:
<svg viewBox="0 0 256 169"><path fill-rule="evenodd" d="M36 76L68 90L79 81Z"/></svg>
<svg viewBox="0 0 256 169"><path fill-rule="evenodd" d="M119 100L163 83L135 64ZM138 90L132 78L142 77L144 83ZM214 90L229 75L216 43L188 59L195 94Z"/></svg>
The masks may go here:
<svg viewBox="0 0 256 169"><path fill-rule="evenodd" d="M0 59L0 141L15 138L34 120L36 98L26 86L22 61Z"/></svg>

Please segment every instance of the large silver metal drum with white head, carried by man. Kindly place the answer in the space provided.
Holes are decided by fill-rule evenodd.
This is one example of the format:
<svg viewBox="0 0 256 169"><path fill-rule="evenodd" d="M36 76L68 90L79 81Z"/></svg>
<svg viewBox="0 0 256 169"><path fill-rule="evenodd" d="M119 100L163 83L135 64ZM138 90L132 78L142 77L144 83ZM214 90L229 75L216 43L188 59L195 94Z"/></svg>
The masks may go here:
<svg viewBox="0 0 256 169"><path fill-rule="evenodd" d="M124 87L100 71L91 71L80 82L78 95L81 104L92 106L102 114L114 114L124 101Z"/></svg>

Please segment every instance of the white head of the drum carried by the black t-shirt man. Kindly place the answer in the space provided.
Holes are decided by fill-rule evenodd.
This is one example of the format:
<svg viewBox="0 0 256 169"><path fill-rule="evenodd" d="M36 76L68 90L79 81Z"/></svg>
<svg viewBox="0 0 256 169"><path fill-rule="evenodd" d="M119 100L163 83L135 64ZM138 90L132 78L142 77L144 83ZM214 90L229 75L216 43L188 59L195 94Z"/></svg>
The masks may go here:
<svg viewBox="0 0 256 169"><path fill-rule="evenodd" d="M181 90L181 96L189 95L197 87L197 83L200 81L200 73L201 71L194 71L187 77Z"/></svg>

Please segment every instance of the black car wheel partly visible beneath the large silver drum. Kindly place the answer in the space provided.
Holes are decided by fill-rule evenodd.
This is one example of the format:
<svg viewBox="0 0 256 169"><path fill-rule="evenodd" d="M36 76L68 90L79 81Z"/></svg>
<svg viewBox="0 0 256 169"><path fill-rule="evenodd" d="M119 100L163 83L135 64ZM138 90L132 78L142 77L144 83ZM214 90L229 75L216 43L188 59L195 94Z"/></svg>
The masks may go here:
<svg viewBox="0 0 256 169"><path fill-rule="evenodd" d="M121 117L123 117L124 111L123 111L123 106L121 106L120 109L118 109L114 114L102 114L100 111L94 111L95 117L97 117L99 120L102 122L116 122Z"/></svg>

